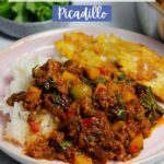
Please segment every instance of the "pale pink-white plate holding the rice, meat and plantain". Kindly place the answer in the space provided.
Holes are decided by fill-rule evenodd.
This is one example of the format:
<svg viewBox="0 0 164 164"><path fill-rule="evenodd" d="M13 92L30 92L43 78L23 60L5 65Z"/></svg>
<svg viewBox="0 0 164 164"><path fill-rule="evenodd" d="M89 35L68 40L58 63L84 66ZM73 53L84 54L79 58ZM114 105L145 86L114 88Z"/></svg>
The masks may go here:
<svg viewBox="0 0 164 164"><path fill-rule="evenodd" d="M98 34L115 34L122 39L140 43L147 45L151 49L155 50L160 55L164 51L164 45L159 43L150 37L145 37L143 35L128 32L125 30L118 28L93 28L93 27L82 27L82 28L63 28L56 31L48 31L44 33L39 33L36 35L32 35L15 42L12 46L1 50L0 52L0 98L3 97L4 91L8 87L7 79L8 79L8 70L11 65L21 56L24 55L55 55L56 50L54 48L54 42L62 38L62 34L65 32L70 31L80 31L86 34L98 35ZM28 156L25 156L21 153L21 150L15 145L4 141L2 139L2 117L0 117L0 149L5 152L11 157L15 159L22 163L30 164L59 164L61 162L58 161L45 161L45 160L34 160ZM164 126L161 126L155 129L153 134L144 140L144 149L140 153L140 155L132 161L127 162L127 164L131 163L152 163L159 161L164 155ZM112 163L112 162L109 162Z"/></svg>

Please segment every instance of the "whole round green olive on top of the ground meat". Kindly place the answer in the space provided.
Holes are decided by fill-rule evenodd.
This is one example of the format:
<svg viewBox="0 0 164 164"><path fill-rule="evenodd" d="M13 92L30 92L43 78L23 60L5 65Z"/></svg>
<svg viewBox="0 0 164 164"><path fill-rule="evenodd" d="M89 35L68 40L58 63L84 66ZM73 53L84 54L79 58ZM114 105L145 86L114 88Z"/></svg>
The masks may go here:
<svg viewBox="0 0 164 164"><path fill-rule="evenodd" d="M92 89L83 83L75 84L71 87L70 94L73 98L82 98L82 97L91 97L92 96Z"/></svg>

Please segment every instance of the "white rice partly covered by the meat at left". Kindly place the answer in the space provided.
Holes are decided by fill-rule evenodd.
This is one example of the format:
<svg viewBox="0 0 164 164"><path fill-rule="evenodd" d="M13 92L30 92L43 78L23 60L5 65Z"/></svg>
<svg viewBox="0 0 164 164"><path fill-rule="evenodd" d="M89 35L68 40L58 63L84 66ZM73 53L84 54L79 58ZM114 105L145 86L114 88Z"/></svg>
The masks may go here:
<svg viewBox="0 0 164 164"><path fill-rule="evenodd" d="M11 67L11 73L13 75L13 81L7 92L7 96L1 102L1 110L3 114L10 115L10 121L7 124L4 129L4 138L9 141L14 141L20 145L23 145L27 140L30 140L30 128L27 124L28 112L26 112L21 103L14 103L14 107L9 107L5 104L7 97L12 93L17 93L21 91L26 91L32 82L32 69L36 66L42 66L48 60L44 56L25 56L16 60ZM59 56L57 57L59 59ZM38 119L40 122L40 132L47 133L52 130L54 122L50 114L45 114ZM35 136L36 138L36 136Z"/></svg>

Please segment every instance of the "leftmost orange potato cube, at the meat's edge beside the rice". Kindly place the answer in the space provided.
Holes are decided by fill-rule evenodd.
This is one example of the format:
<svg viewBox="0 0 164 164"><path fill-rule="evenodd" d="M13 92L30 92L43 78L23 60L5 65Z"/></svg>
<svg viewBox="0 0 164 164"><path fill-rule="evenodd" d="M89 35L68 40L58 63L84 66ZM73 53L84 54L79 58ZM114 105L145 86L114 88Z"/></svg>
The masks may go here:
<svg viewBox="0 0 164 164"><path fill-rule="evenodd" d="M33 102L39 99L42 94L42 90L35 86L30 86L26 93L25 101L26 102Z"/></svg>

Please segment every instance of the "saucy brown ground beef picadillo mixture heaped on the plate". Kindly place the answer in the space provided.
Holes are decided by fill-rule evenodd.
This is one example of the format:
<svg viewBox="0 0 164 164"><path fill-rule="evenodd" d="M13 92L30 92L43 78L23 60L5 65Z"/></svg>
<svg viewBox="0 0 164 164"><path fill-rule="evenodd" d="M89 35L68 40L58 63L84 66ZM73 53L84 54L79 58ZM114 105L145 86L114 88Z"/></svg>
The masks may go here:
<svg viewBox="0 0 164 164"><path fill-rule="evenodd" d="M95 69L103 74L91 75ZM142 150L143 138L149 137L163 114L151 89L119 72L110 78L113 71L93 70L72 60L61 63L49 59L33 69L27 92L14 93L7 99L11 106L22 102L30 112L27 122L36 133L39 112L50 114L54 124L58 120L49 134L26 143L28 156L73 163L77 154L85 153L95 164L105 164L108 160L130 160ZM140 139L140 148L132 150L136 139Z"/></svg>

